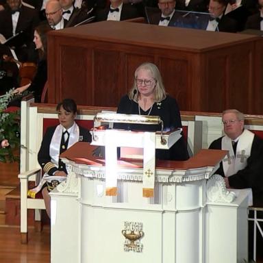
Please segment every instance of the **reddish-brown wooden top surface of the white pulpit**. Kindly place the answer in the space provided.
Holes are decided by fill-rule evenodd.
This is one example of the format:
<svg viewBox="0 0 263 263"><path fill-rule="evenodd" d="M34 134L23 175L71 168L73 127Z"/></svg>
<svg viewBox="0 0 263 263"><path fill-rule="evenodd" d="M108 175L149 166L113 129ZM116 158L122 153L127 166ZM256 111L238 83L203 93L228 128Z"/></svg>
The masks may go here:
<svg viewBox="0 0 263 263"><path fill-rule="evenodd" d="M60 155L60 158L66 158L78 164L87 164L103 166L105 160L92 155L97 146L90 145L89 142L77 142L68 150ZM227 151L202 149L187 161L164 161L157 160L156 169L162 170L188 170L208 166L216 166L227 155ZM126 168L142 168L142 160L120 160L120 166Z"/></svg>

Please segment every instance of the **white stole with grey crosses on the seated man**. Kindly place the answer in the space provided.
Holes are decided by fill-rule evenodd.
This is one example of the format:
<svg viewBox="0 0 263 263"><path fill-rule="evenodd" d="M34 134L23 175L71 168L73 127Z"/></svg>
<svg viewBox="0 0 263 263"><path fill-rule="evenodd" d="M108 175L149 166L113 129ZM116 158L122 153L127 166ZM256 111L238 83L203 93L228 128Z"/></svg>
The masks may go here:
<svg viewBox="0 0 263 263"><path fill-rule="evenodd" d="M238 139L236 157L232 147L232 140L228 136L222 138L221 149L227 150L227 158L223 159L223 170L226 177L236 174L247 166L247 158L251 155L252 142L255 134L245 129Z"/></svg>

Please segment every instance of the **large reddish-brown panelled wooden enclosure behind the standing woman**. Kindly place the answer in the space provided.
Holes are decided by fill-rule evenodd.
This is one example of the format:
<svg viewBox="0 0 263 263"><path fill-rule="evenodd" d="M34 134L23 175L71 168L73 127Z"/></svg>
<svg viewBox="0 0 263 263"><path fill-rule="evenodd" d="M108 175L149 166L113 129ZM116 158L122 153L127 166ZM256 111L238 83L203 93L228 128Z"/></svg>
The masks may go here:
<svg viewBox="0 0 263 263"><path fill-rule="evenodd" d="M51 32L50 38L53 47L49 45L49 49L53 51L49 52L48 60L55 66L49 67L54 71L49 69L51 95L48 102L56 103L64 92L62 86L66 86L75 90L69 95L83 95L84 92L79 100L82 102L86 98L85 105L116 106L132 86L135 68L143 60L150 60L159 66L166 90L177 97L181 110L221 112L234 101L233 94L238 88L242 88L240 94L244 96L242 103L238 101L238 106L244 106L240 110L252 109L252 104L248 106L245 100L253 99L253 92L245 90L253 83L251 70L248 70L251 61L247 59L254 53L252 43L259 39L254 36L103 21ZM78 74L82 80L77 79L78 85L74 87L72 79L66 80L67 69L61 70L62 54L70 50L68 46L86 50L70 51L71 55L76 52L78 57L82 57L80 54L86 56L86 59L80 58L81 64L87 65L86 72ZM242 49L245 55L241 54ZM250 55L246 55L248 51ZM71 65L71 62L66 64ZM77 63L74 64L77 67ZM245 72L247 76L242 81ZM80 90L84 84L87 90ZM234 91L231 91L232 86ZM258 95L260 89L258 86Z"/></svg>

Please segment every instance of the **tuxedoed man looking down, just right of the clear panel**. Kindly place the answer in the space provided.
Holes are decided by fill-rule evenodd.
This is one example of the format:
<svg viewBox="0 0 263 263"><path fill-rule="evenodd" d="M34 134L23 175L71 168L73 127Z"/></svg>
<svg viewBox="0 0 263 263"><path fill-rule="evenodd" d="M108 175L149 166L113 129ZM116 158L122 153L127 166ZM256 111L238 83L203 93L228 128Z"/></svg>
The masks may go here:
<svg viewBox="0 0 263 263"><path fill-rule="evenodd" d="M237 22L224 15L227 0L210 0L208 11L210 12L210 20L206 30L220 32L237 32Z"/></svg>

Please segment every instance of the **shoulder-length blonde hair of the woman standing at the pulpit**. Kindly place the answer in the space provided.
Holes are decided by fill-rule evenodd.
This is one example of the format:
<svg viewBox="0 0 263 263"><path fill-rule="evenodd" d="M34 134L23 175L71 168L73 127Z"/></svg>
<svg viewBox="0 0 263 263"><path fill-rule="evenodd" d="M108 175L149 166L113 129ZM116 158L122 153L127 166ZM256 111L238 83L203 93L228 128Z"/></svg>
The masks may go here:
<svg viewBox="0 0 263 263"><path fill-rule="evenodd" d="M138 68L136 68L136 71L134 73L134 85L132 86L132 89L129 90L128 92L129 99L131 100L133 99L134 101L138 102L140 94L138 92L136 78L138 75L138 71L140 71L141 69L144 69L145 71L149 71L153 79L155 79L155 82L156 82L155 90L154 90L155 102L160 102L164 100L166 98L166 91L164 89L164 84L162 83L162 76L160 74L158 67L155 64L150 63L150 62L145 62L141 64L140 66L138 66Z"/></svg>

